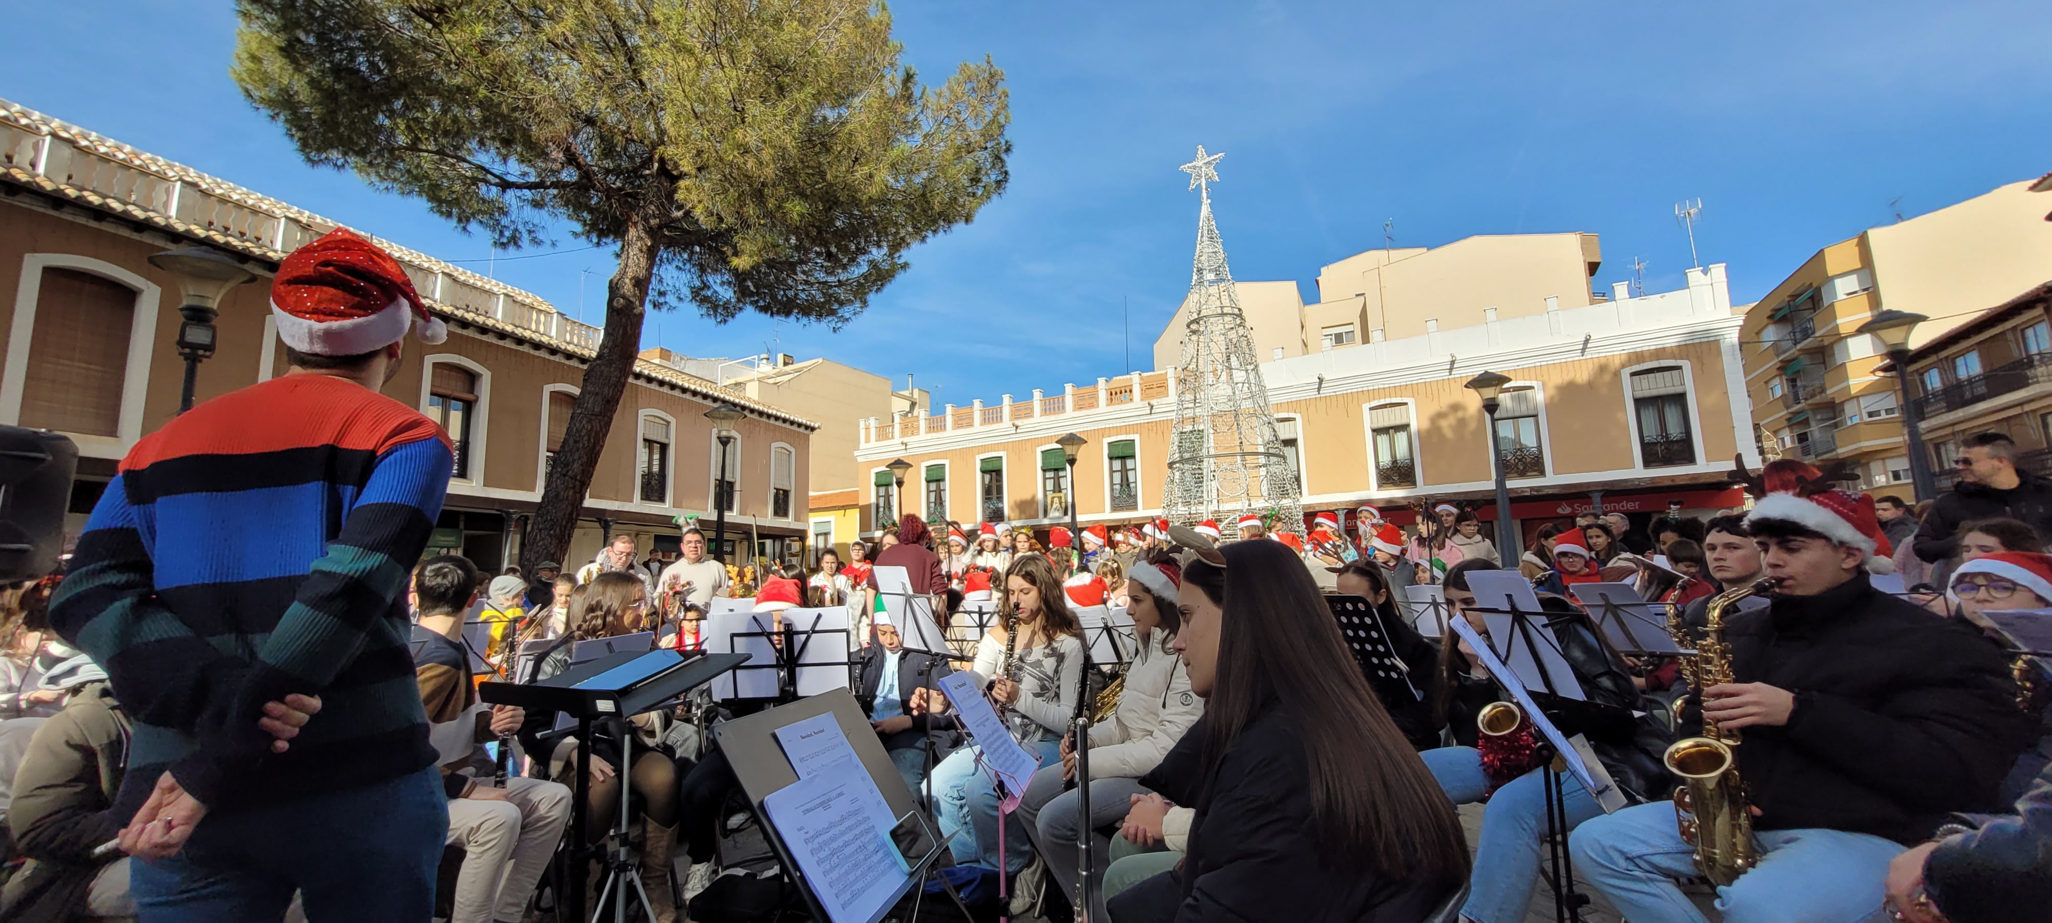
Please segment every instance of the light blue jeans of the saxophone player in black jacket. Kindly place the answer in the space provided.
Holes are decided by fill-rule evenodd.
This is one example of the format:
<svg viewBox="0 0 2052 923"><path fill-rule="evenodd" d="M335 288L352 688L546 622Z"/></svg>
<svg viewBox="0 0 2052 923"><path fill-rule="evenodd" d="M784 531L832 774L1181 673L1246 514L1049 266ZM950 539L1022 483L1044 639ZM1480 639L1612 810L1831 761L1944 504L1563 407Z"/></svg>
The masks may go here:
<svg viewBox="0 0 2052 923"><path fill-rule="evenodd" d="M1695 874L1695 851L1674 829L1670 802L1599 816L1568 839L1574 870L1631 923L1703 923L1674 886ZM1754 831L1761 864L1718 888L1726 923L1882 921L1882 882L1902 845L1845 831Z"/></svg>

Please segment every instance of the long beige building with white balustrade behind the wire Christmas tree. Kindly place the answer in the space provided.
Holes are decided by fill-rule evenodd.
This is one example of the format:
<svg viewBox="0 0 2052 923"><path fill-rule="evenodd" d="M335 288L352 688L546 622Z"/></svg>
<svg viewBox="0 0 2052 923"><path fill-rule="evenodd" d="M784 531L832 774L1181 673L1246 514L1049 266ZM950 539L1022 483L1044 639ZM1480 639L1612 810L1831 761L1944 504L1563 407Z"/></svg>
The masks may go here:
<svg viewBox="0 0 2052 923"><path fill-rule="evenodd" d="M1666 498L1736 505L1724 486L1732 457L1757 462L1740 398L1742 318L1722 265L1689 281L1262 363L1307 513L1373 503L1404 521L1412 500L1451 498L1494 519L1482 503L1494 496L1490 423L1463 388L1486 369L1514 382L1496 433L1527 531L1599 500L1627 513ZM866 420L856 455L864 531L897 513L1065 525L1067 503L1086 525L1159 517L1174 388L1170 371L1151 371ZM1065 433L1086 439L1073 488L1057 445ZM903 490L889 468L897 459L911 466Z"/></svg>

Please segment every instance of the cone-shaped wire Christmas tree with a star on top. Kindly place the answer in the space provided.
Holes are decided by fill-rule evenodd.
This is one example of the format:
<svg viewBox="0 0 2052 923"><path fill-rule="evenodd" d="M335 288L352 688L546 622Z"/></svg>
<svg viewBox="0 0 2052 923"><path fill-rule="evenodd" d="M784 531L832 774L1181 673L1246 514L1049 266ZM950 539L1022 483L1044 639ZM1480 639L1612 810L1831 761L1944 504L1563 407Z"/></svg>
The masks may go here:
<svg viewBox="0 0 2052 923"><path fill-rule="evenodd" d="M1254 355L1254 332L1239 312L1225 242L1211 217L1215 164L1225 154L1205 154L1182 164L1190 189L1200 191L1196 260L1190 265L1182 363L1176 367L1176 429L1170 435L1163 515L1182 525L1217 519L1231 533L1244 513L1270 529L1303 533L1297 476L1282 455L1268 386Z"/></svg>

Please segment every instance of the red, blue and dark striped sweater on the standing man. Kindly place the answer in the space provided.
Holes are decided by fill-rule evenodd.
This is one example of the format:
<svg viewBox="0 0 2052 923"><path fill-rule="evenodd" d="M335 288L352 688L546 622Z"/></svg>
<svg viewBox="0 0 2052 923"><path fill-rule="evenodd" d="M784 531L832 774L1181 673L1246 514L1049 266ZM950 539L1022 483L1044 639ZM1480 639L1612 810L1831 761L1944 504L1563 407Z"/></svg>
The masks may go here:
<svg viewBox="0 0 2052 923"><path fill-rule="evenodd" d="M427 416L312 373L135 443L49 607L135 718L129 790L170 769L224 810L435 763L404 591L451 462ZM256 720L287 693L322 712L273 755Z"/></svg>

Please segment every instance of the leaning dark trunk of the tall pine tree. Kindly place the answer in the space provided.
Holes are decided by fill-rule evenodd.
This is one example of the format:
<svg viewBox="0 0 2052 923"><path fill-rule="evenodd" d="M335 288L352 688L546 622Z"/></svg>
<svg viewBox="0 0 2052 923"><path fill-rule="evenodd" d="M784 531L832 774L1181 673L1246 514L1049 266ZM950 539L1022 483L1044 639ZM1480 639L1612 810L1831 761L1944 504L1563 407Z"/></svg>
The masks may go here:
<svg viewBox="0 0 2052 923"><path fill-rule="evenodd" d="M648 224L630 217L626 234L620 236L620 267L605 283L605 332L599 338L599 355L585 367L570 427L562 433L562 447L548 466L542 505L536 507L527 539L521 544L519 562L529 574L546 560L560 562L566 574L579 566L564 560L564 552L570 550L585 494L591 492L591 474L599 468L605 435L614 429L620 396L626 394L628 375L634 371L655 258L657 242Z"/></svg>

